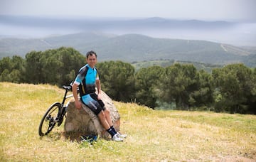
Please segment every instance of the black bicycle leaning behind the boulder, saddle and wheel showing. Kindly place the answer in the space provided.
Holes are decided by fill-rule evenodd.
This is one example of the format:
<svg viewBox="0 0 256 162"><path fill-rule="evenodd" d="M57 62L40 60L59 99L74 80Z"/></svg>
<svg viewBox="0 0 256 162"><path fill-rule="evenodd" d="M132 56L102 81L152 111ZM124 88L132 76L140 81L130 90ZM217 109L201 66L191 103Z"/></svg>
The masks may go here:
<svg viewBox="0 0 256 162"><path fill-rule="evenodd" d="M50 133L50 131L53 130L55 124L60 126L63 123L63 118L66 117L66 111L68 109L68 104L65 104L65 100L73 97L72 95L68 95L68 92L72 90L72 83L70 85L63 85L63 89L65 90L65 94L63 97L63 101L55 102L53 103L46 113L43 115L43 118L41 119L41 122L39 124L38 133L39 136L45 136Z"/></svg>

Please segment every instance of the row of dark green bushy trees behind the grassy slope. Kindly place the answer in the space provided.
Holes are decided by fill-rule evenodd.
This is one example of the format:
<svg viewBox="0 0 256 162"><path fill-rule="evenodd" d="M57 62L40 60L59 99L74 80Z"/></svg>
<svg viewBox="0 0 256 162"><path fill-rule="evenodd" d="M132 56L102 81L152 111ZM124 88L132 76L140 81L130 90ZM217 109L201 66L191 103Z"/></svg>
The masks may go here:
<svg viewBox="0 0 256 162"><path fill-rule="evenodd" d="M85 64L73 48L31 51L0 60L1 82L68 85ZM151 66L135 72L122 61L97 63L102 90L112 99L137 102L153 109L211 110L256 114L256 68L242 64L214 68L211 73L193 65Z"/></svg>

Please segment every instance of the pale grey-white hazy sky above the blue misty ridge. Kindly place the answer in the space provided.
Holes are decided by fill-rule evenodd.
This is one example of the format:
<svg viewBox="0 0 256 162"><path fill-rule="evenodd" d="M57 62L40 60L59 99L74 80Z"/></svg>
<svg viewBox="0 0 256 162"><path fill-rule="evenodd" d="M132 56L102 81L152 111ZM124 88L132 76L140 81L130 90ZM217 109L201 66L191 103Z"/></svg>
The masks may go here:
<svg viewBox="0 0 256 162"><path fill-rule="evenodd" d="M256 22L256 0L0 0L0 14Z"/></svg>

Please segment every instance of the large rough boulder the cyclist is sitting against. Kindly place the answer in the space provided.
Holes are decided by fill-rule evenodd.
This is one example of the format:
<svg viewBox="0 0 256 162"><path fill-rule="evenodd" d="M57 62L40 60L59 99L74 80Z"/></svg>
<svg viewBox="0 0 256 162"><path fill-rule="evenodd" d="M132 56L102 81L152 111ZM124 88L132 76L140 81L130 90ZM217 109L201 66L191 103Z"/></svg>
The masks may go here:
<svg viewBox="0 0 256 162"><path fill-rule="evenodd" d="M110 117L113 121L114 128L119 131L120 116L117 108L105 92L102 91L101 93L105 107L110 110ZM102 127L97 116L88 107L77 109L74 100L71 100L69 103L64 129L66 139L79 140L80 135L85 134L96 134L105 139L109 138L109 134Z"/></svg>

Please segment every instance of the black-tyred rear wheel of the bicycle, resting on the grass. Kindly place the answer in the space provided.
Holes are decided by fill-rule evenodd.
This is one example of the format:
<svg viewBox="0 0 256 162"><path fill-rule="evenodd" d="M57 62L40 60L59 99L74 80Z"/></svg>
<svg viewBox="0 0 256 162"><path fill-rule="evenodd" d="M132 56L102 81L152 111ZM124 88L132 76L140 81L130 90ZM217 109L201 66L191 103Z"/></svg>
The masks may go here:
<svg viewBox="0 0 256 162"><path fill-rule="evenodd" d="M38 129L39 136L45 136L53 130L55 124L58 122L58 113L60 112L60 109L60 102L55 102L49 107L46 114L44 114L41 119Z"/></svg>

